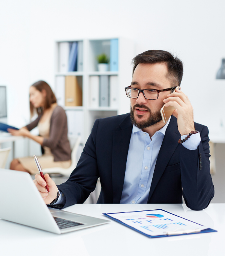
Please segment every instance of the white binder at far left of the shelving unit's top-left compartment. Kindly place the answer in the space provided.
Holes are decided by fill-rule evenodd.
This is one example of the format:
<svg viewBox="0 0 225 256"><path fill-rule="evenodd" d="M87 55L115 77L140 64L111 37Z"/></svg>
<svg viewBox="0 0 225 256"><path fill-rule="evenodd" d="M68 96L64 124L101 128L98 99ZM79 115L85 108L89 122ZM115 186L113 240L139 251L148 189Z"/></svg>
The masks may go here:
<svg viewBox="0 0 225 256"><path fill-rule="evenodd" d="M69 43L58 43L58 72L68 72Z"/></svg>

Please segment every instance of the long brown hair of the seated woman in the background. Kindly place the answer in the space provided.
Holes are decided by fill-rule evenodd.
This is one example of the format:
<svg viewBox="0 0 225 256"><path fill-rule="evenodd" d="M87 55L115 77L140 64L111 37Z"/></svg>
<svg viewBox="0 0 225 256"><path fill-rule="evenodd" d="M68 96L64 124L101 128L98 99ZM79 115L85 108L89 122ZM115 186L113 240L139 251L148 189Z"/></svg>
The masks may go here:
<svg viewBox="0 0 225 256"><path fill-rule="evenodd" d="M42 92L43 89L45 89L46 91L46 98L45 98L45 103L43 108L42 107L34 108L34 106L30 102L30 117L33 117L35 113L37 113L38 115L42 114L42 111L44 109L50 108L51 104L57 102L57 99L55 98L55 94L53 93L51 87L45 81L37 81L31 86L35 87L40 92Z"/></svg>

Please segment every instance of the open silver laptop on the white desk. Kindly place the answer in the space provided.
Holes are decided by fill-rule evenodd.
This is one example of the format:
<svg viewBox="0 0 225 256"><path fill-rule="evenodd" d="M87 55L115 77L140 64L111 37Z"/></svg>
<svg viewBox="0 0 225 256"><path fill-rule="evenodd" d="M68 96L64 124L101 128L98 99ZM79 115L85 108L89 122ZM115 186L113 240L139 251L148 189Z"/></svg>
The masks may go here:
<svg viewBox="0 0 225 256"><path fill-rule="evenodd" d="M110 222L48 208L30 174L6 169L0 169L0 218L56 234Z"/></svg>

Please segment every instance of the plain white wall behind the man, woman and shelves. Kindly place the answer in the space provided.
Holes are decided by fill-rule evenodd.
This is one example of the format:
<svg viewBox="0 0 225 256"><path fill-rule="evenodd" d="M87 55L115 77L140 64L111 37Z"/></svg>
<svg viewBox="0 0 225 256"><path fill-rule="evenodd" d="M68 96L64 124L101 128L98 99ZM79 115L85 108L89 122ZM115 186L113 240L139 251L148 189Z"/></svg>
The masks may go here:
<svg viewBox="0 0 225 256"><path fill-rule="evenodd" d="M123 36L135 41L136 54L162 49L181 58L181 89L192 102L195 121L213 131L213 123L220 123L218 109L224 110L225 81L216 85L214 79L225 56L224 10L222 0L2 1L0 84L9 88L9 122L22 126L29 120L33 82L44 79L54 87L55 40Z"/></svg>

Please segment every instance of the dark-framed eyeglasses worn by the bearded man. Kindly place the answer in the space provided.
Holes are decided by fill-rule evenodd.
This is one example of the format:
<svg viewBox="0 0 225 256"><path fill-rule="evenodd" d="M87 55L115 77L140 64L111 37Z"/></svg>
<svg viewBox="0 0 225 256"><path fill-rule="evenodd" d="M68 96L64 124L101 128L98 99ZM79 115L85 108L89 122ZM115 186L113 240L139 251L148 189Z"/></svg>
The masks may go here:
<svg viewBox="0 0 225 256"><path fill-rule="evenodd" d="M170 87L170 88L166 88L163 90L156 90L156 89L137 89L137 88L132 88L131 85L128 87L125 87L125 91L126 91L126 95L128 98L132 98L132 99L136 99L138 98L140 93L143 93L144 98L145 99L157 99L159 98L159 93L161 93L162 91L172 91L174 90L175 87Z"/></svg>

